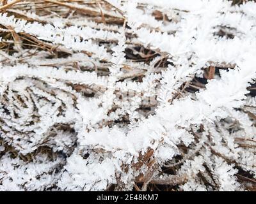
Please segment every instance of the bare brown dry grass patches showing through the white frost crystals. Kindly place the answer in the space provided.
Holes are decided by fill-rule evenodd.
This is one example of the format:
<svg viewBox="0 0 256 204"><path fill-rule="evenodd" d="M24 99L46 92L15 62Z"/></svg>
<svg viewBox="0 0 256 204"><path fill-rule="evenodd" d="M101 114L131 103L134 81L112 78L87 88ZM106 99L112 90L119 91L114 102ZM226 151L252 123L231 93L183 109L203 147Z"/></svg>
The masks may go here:
<svg viewBox="0 0 256 204"><path fill-rule="evenodd" d="M241 4L246 0L234 0L234 4ZM8 15L14 15L16 18L28 20L29 22L40 22L45 24L46 22L40 18L32 18L26 16L25 13L20 11L28 11L31 8L35 10L36 15L44 17L45 15L51 14L52 16L67 18L70 13L72 13L73 20L86 18L88 20L92 20L93 22L103 23L103 24L112 24L112 25L123 25L125 23L125 18L122 15L121 11L118 11L116 8L113 8L106 1L82 1L82 0L63 0L63 1L54 1L54 0L44 0L44 1L21 1L16 0L12 3L7 4L6 1L3 0L3 6L0 7L0 12L8 13ZM80 5L80 6L79 6ZM83 7L82 7L83 6ZM112 9L116 9L116 14L111 12ZM164 18L161 12L155 12L156 18L161 19ZM68 23L67 23L68 25ZM0 37L2 37L5 42L0 43L0 50L3 53L12 55L17 52L19 49L29 49L29 48L37 48L38 51L45 50L49 52L52 58L60 58L67 57L70 55L70 50L67 48L61 47L59 45L52 45L44 40L39 40L35 36L31 36L28 33L15 33L12 27L5 27L1 25L0 22ZM108 43L108 42L106 42ZM136 50L136 54L134 51ZM89 52L84 51L85 54L90 56ZM141 47L141 45L131 45L131 48L125 50L125 54L127 59L131 59L132 61L141 61L141 62L149 62L154 57L159 56L157 50L148 50L147 48ZM31 53L33 55L33 53ZM20 59L22 61L22 59ZM106 62L108 63L108 62ZM58 65L58 64L56 64ZM156 69L158 72L164 70L168 62L166 61L166 57L162 57L160 61L156 63ZM71 65L74 69L77 69L77 64L73 63ZM218 75L220 69L233 68L232 64L214 64L210 66L209 69L205 70L204 78L194 78L191 82L182 85L180 94L182 92L196 92L199 89L204 89L207 79L212 79ZM100 67L95 68L99 75L107 75L108 68ZM124 67L124 69L133 69L129 67ZM133 78L134 80L140 82L143 78L143 72L134 73L132 75L127 74L127 78ZM124 78L122 78L124 80ZM86 89L83 86L75 87L76 90ZM255 94L255 85L248 87L248 90L251 91L251 94ZM179 97L179 95L177 95ZM255 117L251 113L252 117ZM255 119L255 118L254 118ZM246 145L243 139L239 140L239 145ZM4 141L0 138L0 143L4 143ZM17 152L12 146L4 143L4 147L6 152L9 152L12 157L20 157L20 159L24 161L32 161L33 157L35 157L38 152L44 152L49 155L49 158L54 157L54 154L58 154L52 152L51 148L47 146L42 146L38 148L35 152L27 155L22 155ZM245 147L245 146L244 146ZM186 152L186 147L180 147L184 149ZM250 147L248 147L250 148ZM254 147L255 148L255 147ZM216 153L217 154L217 153ZM177 191L177 184L180 184L186 180L186 176L177 177L173 176L172 173L177 170L179 167L179 161L181 160L179 157L176 158L177 166L171 166L163 168L165 173L170 173L170 177L164 180L150 180L152 177L152 171L156 168L156 164L154 163L154 158L152 157L153 153L151 150L148 150L147 154L141 155L141 160L139 163L134 164L136 168L141 168L143 164L147 164L150 171L148 171L145 175L140 175L137 178L137 183L134 185L134 191L140 191L141 189L147 189L148 191ZM219 155L220 156L220 155ZM1 157L1 154L0 154ZM222 156L221 156L222 157ZM225 159L225 157L224 157ZM250 173L240 170L237 174L237 178L240 182L248 182L248 190L256 191L256 180L252 178ZM150 182L149 182L150 180ZM108 187L108 191L116 189L116 185L111 185Z"/></svg>

